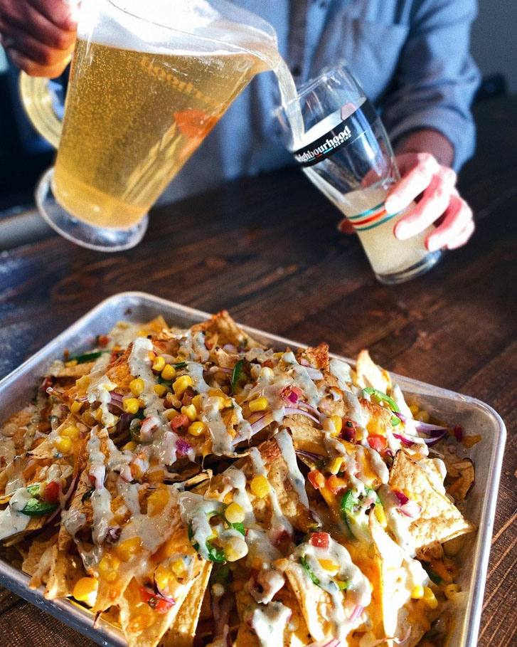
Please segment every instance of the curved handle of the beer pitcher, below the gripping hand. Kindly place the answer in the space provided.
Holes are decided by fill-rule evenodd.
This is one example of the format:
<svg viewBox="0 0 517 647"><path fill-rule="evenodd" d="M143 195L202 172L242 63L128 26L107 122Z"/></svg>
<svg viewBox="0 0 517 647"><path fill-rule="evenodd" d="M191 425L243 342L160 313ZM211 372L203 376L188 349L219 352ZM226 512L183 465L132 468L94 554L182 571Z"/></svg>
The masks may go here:
<svg viewBox="0 0 517 647"><path fill-rule="evenodd" d="M19 90L23 107L36 130L55 149L59 146L63 122L54 110L50 79L29 76L20 72Z"/></svg>

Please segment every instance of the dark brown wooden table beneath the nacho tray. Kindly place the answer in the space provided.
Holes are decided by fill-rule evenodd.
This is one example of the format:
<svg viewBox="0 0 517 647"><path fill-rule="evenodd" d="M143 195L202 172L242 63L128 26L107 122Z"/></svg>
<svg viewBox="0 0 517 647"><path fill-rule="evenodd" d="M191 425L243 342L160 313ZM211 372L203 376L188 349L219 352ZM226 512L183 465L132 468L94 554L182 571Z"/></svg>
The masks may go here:
<svg viewBox="0 0 517 647"><path fill-rule="evenodd" d="M356 238L296 169L156 209L144 242L106 255L57 236L0 254L0 377L105 297L145 290L482 399L508 428L479 645L517 644L517 97L479 105L462 174L469 245L397 287L375 281ZM9 646L89 643L0 593ZM9 637L8 637L9 636Z"/></svg>

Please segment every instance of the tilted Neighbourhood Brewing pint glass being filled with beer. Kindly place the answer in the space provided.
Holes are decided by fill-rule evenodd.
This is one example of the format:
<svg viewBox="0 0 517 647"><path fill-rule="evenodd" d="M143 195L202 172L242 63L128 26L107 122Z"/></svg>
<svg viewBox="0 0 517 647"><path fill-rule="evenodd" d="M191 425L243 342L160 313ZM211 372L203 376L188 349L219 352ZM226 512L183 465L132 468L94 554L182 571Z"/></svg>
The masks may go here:
<svg viewBox="0 0 517 647"><path fill-rule="evenodd" d="M302 128L293 127L301 113ZM405 241L393 229L412 206L387 214L385 198L400 179L380 117L344 63L298 90L294 105L277 112L287 146L311 182L353 225L381 283L420 275L442 251L425 248L425 231Z"/></svg>

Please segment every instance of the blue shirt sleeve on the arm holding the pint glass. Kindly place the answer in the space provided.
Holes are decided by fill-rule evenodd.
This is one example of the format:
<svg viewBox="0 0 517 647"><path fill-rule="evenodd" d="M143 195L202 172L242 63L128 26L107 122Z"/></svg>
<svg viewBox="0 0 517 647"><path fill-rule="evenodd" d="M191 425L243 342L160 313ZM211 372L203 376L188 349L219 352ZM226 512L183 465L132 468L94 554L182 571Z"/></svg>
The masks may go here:
<svg viewBox="0 0 517 647"><path fill-rule="evenodd" d="M454 169L474 153L476 129L470 105L479 70L469 53L476 0L415 3L383 122L392 142L413 130L433 128L454 147Z"/></svg>

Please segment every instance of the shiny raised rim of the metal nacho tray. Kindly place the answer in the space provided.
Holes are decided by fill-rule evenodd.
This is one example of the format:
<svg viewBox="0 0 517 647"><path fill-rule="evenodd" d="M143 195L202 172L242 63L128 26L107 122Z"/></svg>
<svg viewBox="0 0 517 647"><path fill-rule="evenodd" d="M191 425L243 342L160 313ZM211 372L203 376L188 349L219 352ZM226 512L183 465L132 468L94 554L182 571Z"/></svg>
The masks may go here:
<svg viewBox="0 0 517 647"><path fill-rule="evenodd" d="M119 303L120 301L127 300L128 302L139 300L141 303L146 302L151 306L160 306L170 308L174 307L176 310L181 310L184 315L195 318L197 320L205 320L210 317L210 313L204 312L203 310L198 310L181 303L171 301L169 299L161 298L151 293L145 293L137 290L128 290L121 293L116 293L110 295L109 297L103 299L100 303L92 307L90 310L87 310L84 315L82 315L78 320L73 322L70 326L65 328L63 332L60 332L58 335L53 337L47 344L45 344L41 349L36 351L28 357L22 364L16 367L13 371L6 375L3 379L0 379L0 395L2 391L9 389L9 386L16 382L18 377L21 377L22 374L25 374L28 369L40 361L44 360L46 354L53 349L55 346L58 346L60 342L64 342L69 337L72 337L76 332L80 332L87 322L94 318L96 315L100 314L102 310L112 305L112 303ZM127 307L131 307L131 303L127 303ZM239 324L240 325L240 324ZM242 330L250 333L250 335L256 335L257 337L267 337L271 342L277 344L282 344L284 346L292 347L304 347L307 344L300 344L294 340L289 340L287 337L282 337L280 335L275 335L268 333L259 328L240 325ZM330 353L331 357L336 359L342 359L349 364L354 365L355 361L348 357L343 357L342 355L336 353ZM397 382L403 386L403 390L410 390L407 387L415 386L424 391L429 391L432 389L434 396L443 396L447 399L462 399L467 404L471 404L484 411L485 414L491 417L494 422L494 446L491 451L491 460L488 470L488 475L486 479L486 489L484 493L483 500L481 502L481 517L479 520L479 527L476 533L476 541L474 545L474 566L471 574L471 582L474 582L474 586L469 586L469 597L467 600L467 606L464 613L463 619L463 637L464 641L461 647L474 647L477 643L477 637L479 634L479 626L481 622L481 612L482 612L482 602L484 599L484 589L486 585L486 573L489 564L489 554L491 548L491 536L492 530L494 527L494 518L495 518L495 508L496 502L499 494L499 482L501 476L501 468L503 462L503 452L506 441L506 426L503 419L499 414L486 402L468 396L457 391L451 391L449 389L443 389L441 386L435 386L433 384L428 384L427 382L421 382L417 379L412 379L410 377L405 377L403 375L390 372ZM14 591L17 595L21 596L23 599L35 604L38 608L48 611L50 614L56 618L64 621L69 626L77 629L83 635L99 642L102 645L114 646L114 647L123 647L127 643L124 641L121 632L119 629L111 624L108 621L100 619L95 625L95 628L92 626L92 614L91 611L85 607L80 606L75 603L73 600L68 598L57 599L57 600L47 600L43 597L43 588L40 589L30 589L28 588L28 575L24 574L21 571L18 571L12 564L9 562L0 559L0 584L5 586L7 589ZM92 635L92 632L95 633ZM105 633L105 638L100 636L100 633ZM109 642L108 642L109 641Z"/></svg>

